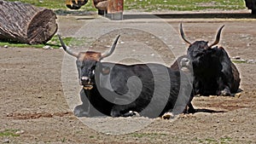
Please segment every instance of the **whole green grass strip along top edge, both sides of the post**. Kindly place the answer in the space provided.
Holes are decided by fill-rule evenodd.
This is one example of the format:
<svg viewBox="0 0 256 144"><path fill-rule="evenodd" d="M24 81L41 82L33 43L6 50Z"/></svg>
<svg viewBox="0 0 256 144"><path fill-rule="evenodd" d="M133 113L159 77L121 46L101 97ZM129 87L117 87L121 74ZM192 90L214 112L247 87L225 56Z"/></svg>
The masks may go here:
<svg viewBox="0 0 256 144"><path fill-rule="evenodd" d="M48 9L67 9L63 0L20 0L20 2L32 3ZM124 7L125 10L135 9L145 12L154 10L246 9L244 0L125 0ZM92 0L89 0L79 10L96 11Z"/></svg>

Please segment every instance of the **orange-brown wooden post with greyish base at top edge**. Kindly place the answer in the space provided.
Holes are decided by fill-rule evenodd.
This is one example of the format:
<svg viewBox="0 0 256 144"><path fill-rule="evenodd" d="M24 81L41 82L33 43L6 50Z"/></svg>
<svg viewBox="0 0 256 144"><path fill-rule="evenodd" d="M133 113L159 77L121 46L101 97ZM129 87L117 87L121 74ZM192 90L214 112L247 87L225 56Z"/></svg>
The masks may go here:
<svg viewBox="0 0 256 144"><path fill-rule="evenodd" d="M124 0L108 0L108 14L112 20L123 20Z"/></svg>

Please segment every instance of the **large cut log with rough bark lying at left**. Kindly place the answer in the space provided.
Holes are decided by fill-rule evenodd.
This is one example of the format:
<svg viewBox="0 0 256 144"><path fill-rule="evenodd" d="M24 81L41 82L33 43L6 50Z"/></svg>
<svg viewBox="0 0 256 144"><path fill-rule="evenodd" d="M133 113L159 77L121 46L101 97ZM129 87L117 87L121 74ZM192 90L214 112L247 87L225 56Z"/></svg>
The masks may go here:
<svg viewBox="0 0 256 144"><path fill-rule="evenodd" d="M0 0L0 40L46 43L57 31L56 15L32 4Z"/></svg>

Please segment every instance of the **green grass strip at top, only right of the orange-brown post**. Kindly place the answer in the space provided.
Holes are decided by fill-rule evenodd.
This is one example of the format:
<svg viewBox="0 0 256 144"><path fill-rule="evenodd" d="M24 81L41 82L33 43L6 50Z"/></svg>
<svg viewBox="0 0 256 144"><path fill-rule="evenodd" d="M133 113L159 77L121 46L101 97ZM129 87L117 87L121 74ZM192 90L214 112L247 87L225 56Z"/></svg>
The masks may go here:
<svg viewBox="0 0 256 144"><path fill-rule="evenodd" d="M125 9L154 10L202 10L245 9L244 0L125 0Z"/></svg>

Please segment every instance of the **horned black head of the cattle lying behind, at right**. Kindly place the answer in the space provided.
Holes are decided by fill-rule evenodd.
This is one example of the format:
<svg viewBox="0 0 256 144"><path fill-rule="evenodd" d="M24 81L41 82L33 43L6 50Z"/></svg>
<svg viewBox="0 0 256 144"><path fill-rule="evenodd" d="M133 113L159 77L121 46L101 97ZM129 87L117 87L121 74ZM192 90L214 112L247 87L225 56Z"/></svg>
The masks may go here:
<svg viewBox="0 0 256 144"><path fill-rule="evenodd" d="M223 27L224 26L221 26L219 28L215 41L212 44L208 44L206 41L195 41L194 43L190 43L184 36L183 26L180 24L181 37L186 43L189 43L187 55L192 60L194 71L205 68L205 66L207 66L205 64L211 60L212 54L214 53L212 46L218 44Z"/></svg>

